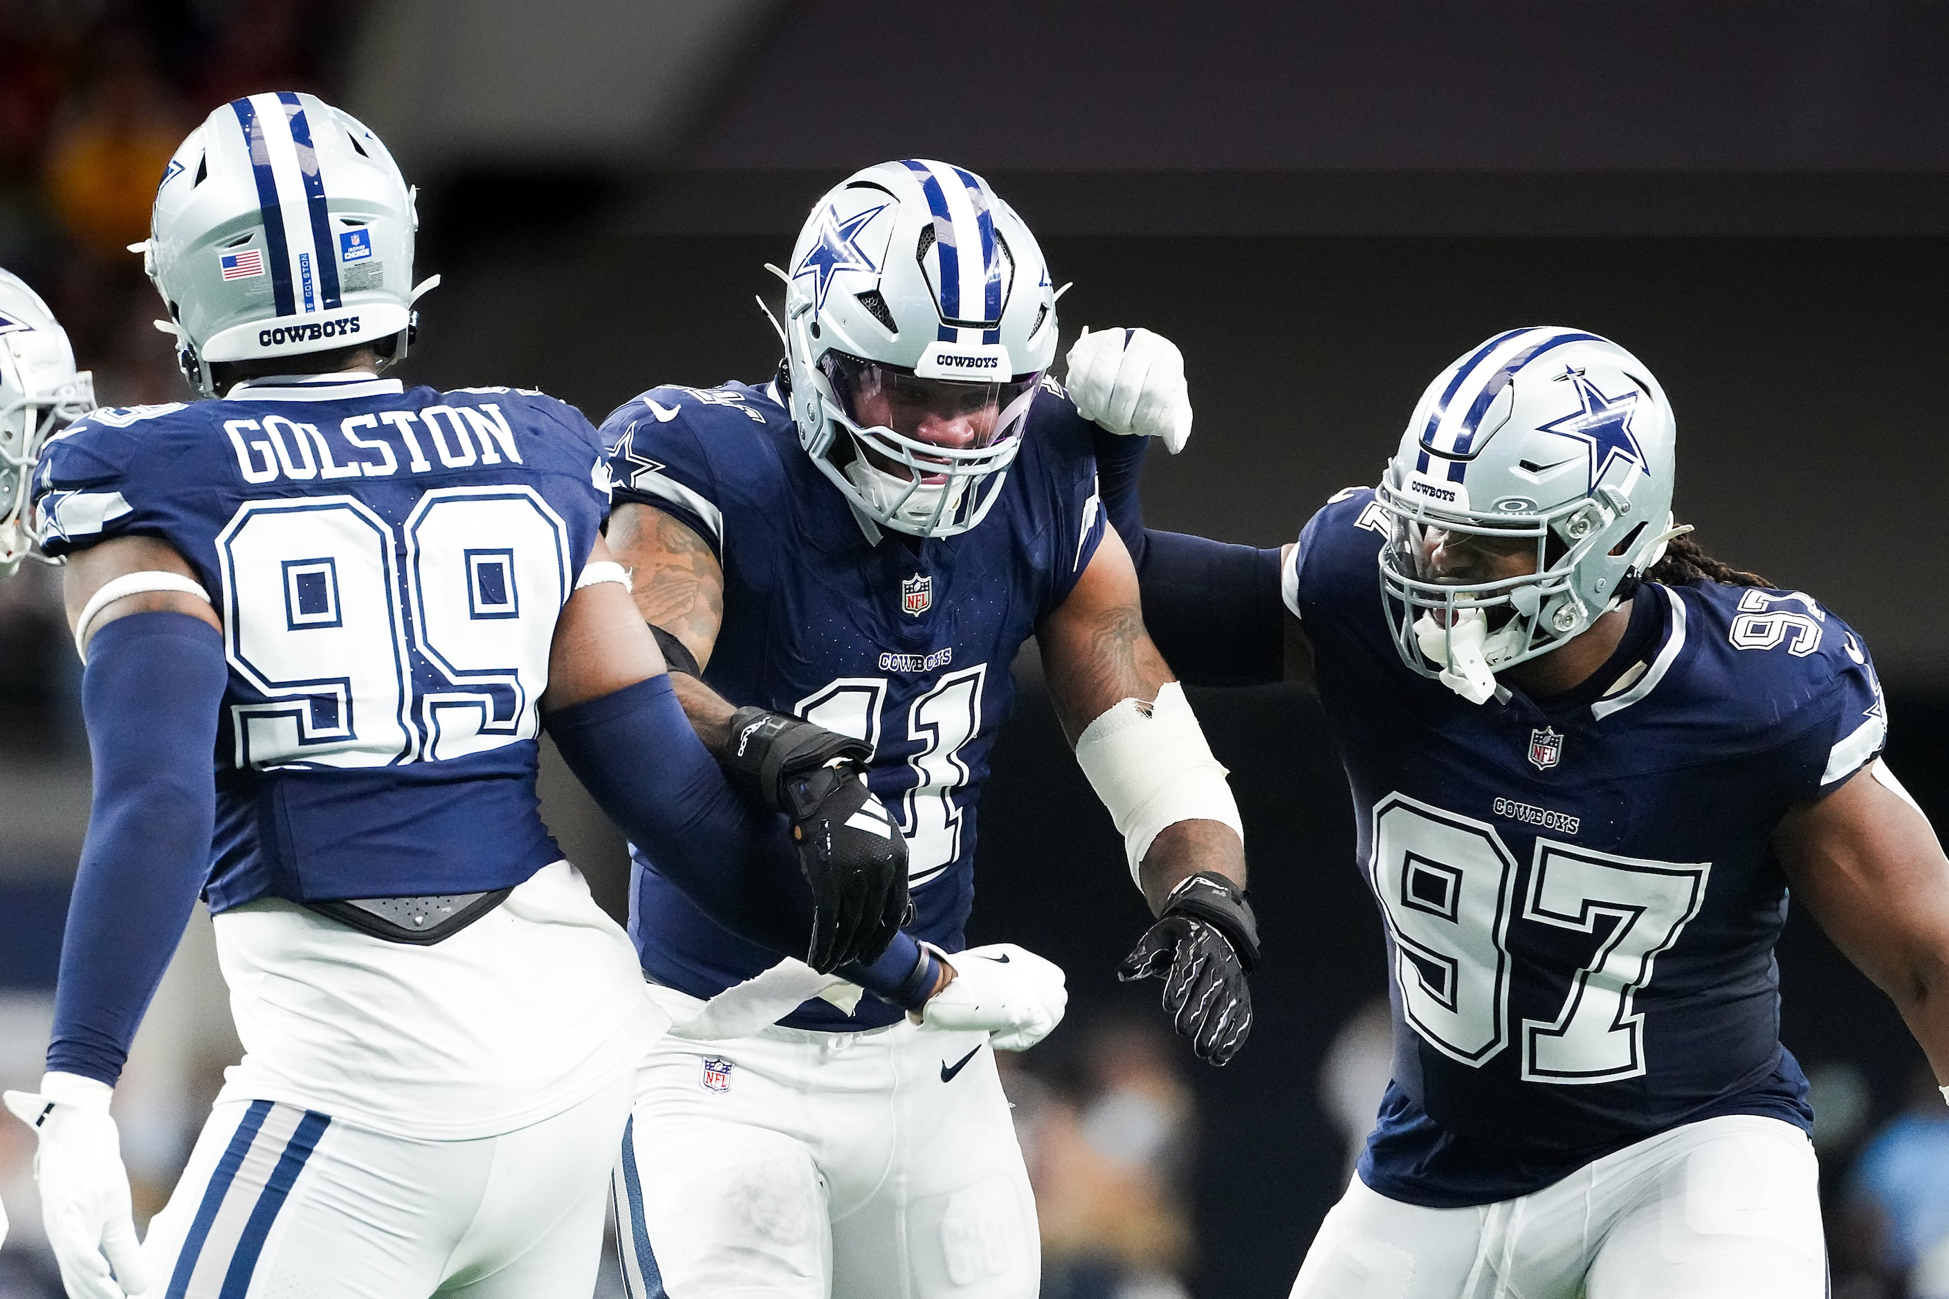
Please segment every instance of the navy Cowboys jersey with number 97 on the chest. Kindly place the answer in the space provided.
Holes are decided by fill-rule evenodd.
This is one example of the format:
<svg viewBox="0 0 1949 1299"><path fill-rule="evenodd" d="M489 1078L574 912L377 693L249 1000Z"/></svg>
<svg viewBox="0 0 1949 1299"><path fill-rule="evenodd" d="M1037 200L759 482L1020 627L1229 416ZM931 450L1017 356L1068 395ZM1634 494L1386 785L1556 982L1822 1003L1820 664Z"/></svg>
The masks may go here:
<svg viewBox="0 0 1949 1299"><path fill-rule="evenodd" d="M1881 750L1861 641L1799 592L1647 584L1585 687L1473 705L1401 662L1386 530L1370 491L1335 497L1286 580L1388 929L1394 1083L1360 1176L1456 1207L1703 1118L1811 1128L1770 835Z"/></svg>

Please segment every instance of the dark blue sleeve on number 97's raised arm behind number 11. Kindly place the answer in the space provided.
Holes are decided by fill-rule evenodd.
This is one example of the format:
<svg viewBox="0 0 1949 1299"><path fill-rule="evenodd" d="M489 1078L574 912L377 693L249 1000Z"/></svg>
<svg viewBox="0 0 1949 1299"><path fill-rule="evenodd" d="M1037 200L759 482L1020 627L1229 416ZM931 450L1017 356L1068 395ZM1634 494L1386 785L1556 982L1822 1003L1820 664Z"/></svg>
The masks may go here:
<svg viewBox="0 0 1949 1299"><path fill-rule="evenodd" d="M1136 487L1150 438L1097 430L1097 491L1144 592L1144 627L1189 686L1284 680L1279 547L1253 549L1144 528Z"/></svg>

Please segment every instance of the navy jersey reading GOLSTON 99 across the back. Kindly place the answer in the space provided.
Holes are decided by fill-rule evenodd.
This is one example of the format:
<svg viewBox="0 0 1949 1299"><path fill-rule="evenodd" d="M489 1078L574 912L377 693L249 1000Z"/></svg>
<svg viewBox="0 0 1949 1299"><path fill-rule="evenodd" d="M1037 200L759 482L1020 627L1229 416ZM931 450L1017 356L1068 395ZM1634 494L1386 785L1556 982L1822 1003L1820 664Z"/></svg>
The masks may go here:
<svg viewBox="0 0 1949 1299"><path fill-rule="evenodd" d="M224 623L222 911L505 888L555 617L608 512L596 430L507 388L320 376L94 411L35 475L47 551L168 541Z"/></svg>

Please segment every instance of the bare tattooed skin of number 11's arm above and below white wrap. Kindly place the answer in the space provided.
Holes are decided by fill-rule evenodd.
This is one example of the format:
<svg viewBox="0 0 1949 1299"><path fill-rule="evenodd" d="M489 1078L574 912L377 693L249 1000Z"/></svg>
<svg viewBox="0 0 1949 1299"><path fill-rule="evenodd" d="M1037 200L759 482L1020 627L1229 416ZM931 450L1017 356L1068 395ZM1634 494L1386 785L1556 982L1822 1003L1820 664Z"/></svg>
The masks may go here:
<svg viewBox="0 0 1949 1299"><path fill-rule="evenodd" d="M1103 534L1089 567L1035 637L1070 746L1119 701L1156 699L1158 687L1175 680L1144 631L1136 569L1115 532ZM1199 871L1216 871L1245 886L1245 845L1230 826L1185 820L1156 837L1140 867L1152 911L1160 911L1166 896Z"/></svg>

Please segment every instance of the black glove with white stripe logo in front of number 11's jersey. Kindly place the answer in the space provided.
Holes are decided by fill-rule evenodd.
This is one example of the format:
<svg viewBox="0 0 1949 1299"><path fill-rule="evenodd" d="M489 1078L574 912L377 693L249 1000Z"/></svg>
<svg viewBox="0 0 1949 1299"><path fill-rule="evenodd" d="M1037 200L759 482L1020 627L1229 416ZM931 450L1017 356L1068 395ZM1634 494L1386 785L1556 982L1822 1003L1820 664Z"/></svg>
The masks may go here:
<svg viewBox="0 0 1949 1299"><path fill-rule="evenodd" d="M865 787L871 756L863 742L795 717L731 717L725 767L791 820L813 890L805 964L821 974L875 960L906 917L906 839Z"/></svg>

